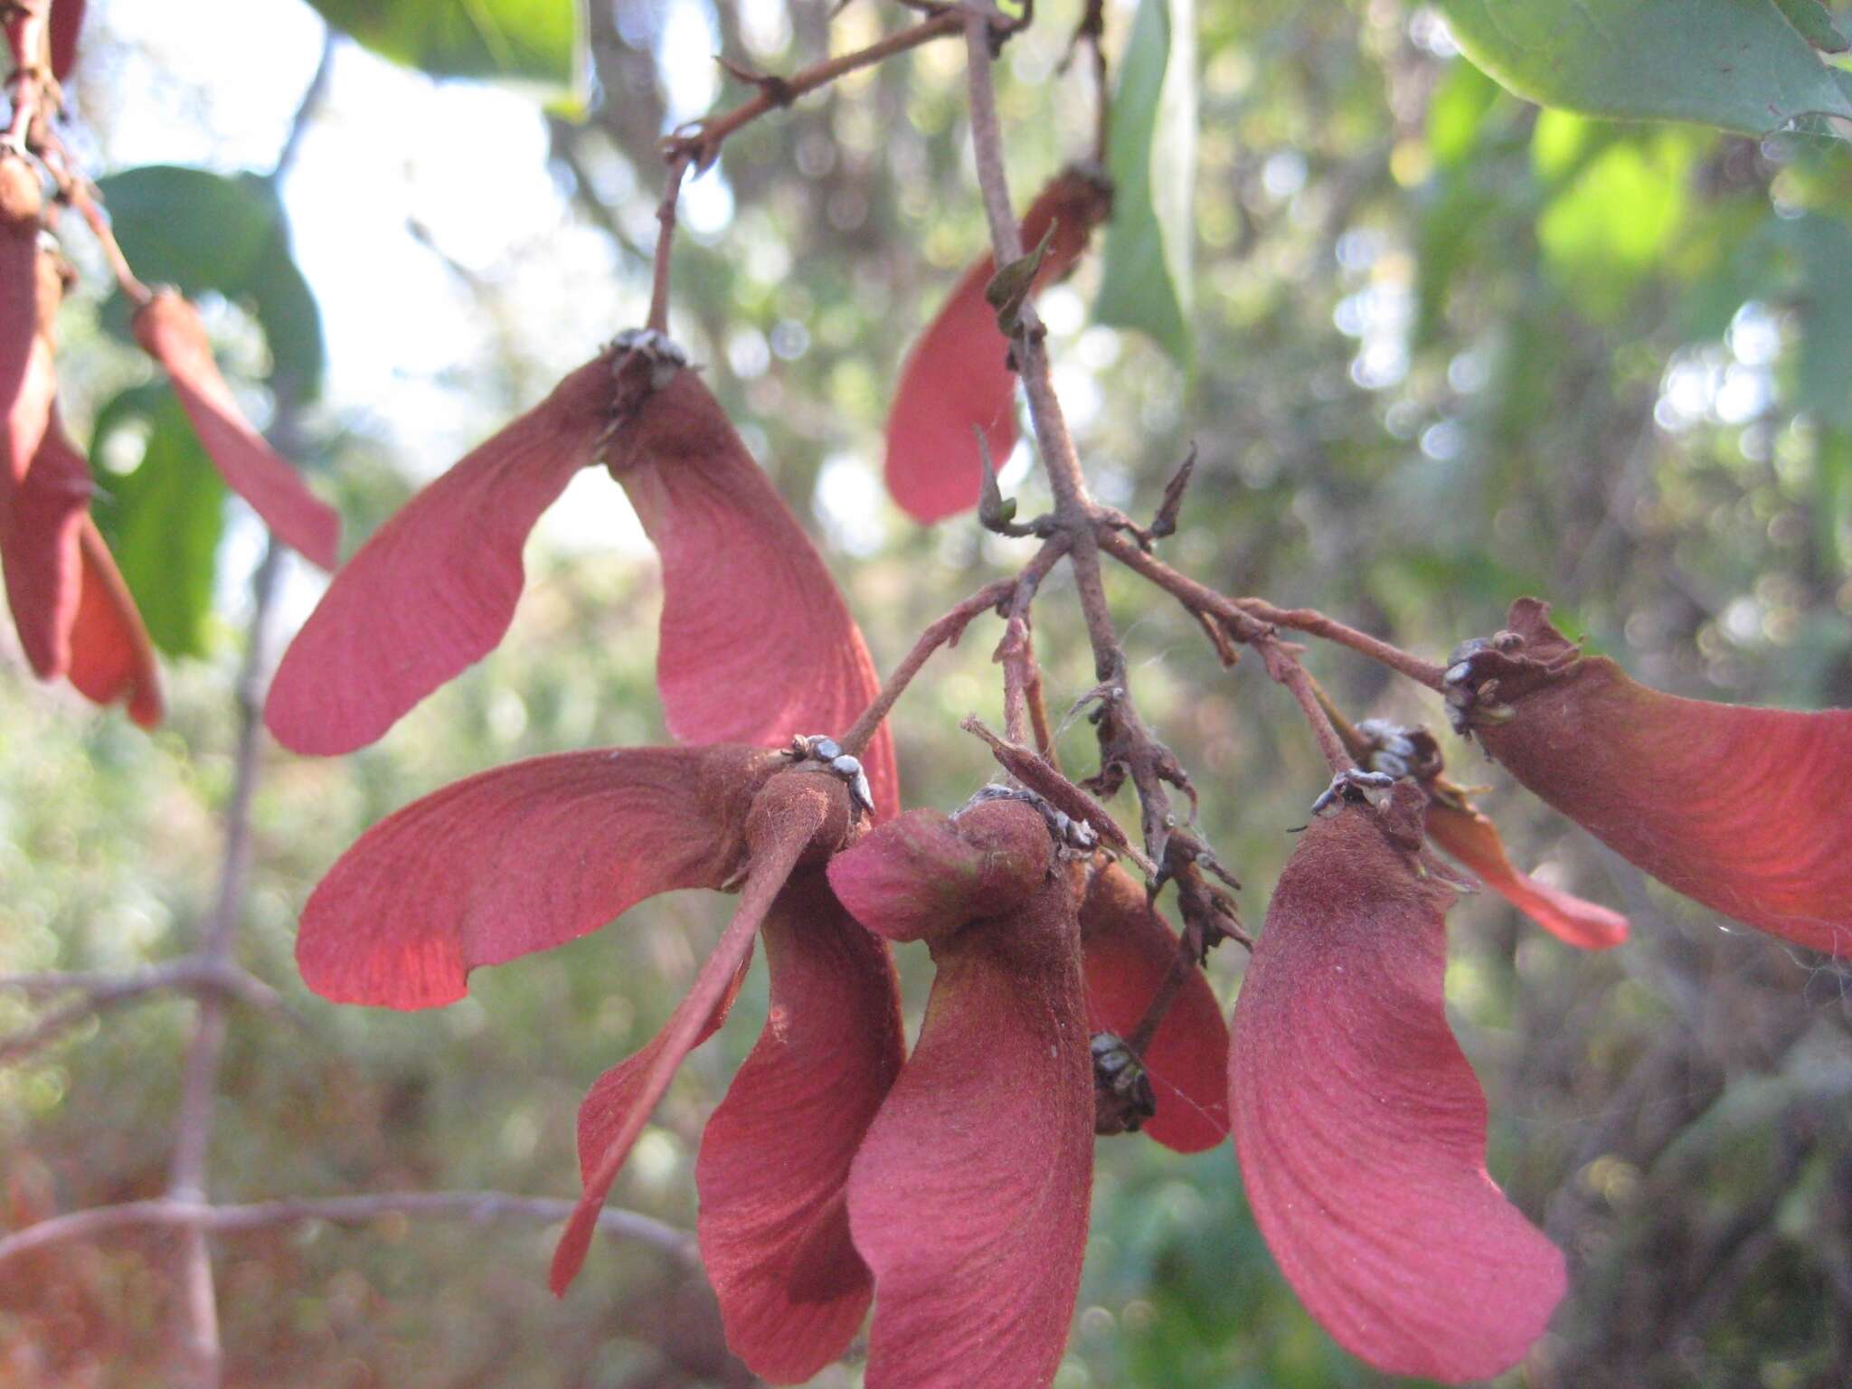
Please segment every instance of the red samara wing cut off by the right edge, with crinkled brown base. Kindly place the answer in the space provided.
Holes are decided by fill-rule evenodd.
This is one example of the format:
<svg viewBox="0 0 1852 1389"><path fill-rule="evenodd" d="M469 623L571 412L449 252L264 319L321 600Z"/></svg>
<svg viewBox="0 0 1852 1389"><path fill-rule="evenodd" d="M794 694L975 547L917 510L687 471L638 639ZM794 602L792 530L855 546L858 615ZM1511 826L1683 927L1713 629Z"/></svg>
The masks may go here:
<svg viewBox="0 0 1852 1389"><path fill-rule="evenodd" d="M1535 598L1469 685L1511 709L1474 732L1519 782L1630 863L1726 917L1852 954L1852 711L1787 713L1646 689L1580 656ZM1489 682L1496 680L1496 689Z"/></svg>

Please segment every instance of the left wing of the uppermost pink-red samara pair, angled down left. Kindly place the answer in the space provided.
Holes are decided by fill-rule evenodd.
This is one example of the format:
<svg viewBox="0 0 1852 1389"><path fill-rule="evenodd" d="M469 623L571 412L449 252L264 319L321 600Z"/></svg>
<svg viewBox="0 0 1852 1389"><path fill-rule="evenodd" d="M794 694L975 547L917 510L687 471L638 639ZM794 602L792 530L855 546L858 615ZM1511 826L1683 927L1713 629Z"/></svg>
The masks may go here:
<svg viewBox="0 0 1852 1389"><path fill-rule="evenodd" d="M611 407L598 356L456 463L335 574L278 667L265 722L296 752L363 748L502 641L520 548L582 467Z"/></svg>

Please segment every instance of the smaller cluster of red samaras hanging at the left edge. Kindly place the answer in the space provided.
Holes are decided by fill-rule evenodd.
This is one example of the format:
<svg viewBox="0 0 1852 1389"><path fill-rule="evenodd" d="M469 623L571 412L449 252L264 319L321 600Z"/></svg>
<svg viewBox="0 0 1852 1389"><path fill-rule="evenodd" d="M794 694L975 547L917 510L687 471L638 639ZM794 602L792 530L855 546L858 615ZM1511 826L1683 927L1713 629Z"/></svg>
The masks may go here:
<svg viewBox="0 0 1852 1389"><path fill-rule="evenodd" d="M59 6L74 15L81 7ZM59 52L52 30L52 52ZM161 717L154 648L135 600L91 520L91 469L57 415L54 324L70 270L50 243L33 163L0 150L0 563L26 661L41 680L69 678L98 704ZM206 452L270 530L333 569L339 517L239 413L193 306L170 289L135 309L135 341L174 385Z"/></svg>

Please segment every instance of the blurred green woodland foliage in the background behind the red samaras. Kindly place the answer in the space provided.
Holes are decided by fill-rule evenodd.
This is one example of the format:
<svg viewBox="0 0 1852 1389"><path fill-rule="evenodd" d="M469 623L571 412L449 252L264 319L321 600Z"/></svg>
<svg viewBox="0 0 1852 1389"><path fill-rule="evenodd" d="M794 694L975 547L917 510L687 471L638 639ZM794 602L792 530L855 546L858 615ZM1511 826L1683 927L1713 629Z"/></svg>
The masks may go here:
<svg viewBox="0 0 1852 1389"><path fill-rule="evenodd" d="M820 7L774 6L769 22L743 4L689 2L722 52L778 72L907 22L852 6L832 37ZM1461 19L1470 7L1443 9L1480 52L1487 41ZM1546 24L1554 11L1532 13ZM1746 0L1730 11L1763 22ZM576 224L613 241L654 207L654 141L672 96L656 50L672 13L593 6L604 98L587 124L550 128ZM1782 22L1772 4L1767 13ZM1000 96L1019 202L1091 150L1083 65L1056 74L1078 19L1074 4L1041 6L1007 50ZM1107 20L1117 57L1132 7L1109 7ZM1678 61L1680 24L1628 37ZM1196 485L1165 554L1215 587L1317 606L1435 656L1495 630L1511 596L1537 593L1659 687L1852 706L1845 146L1815 130L1746 139L1539 115L1456 56L1432 11L1395 0L1219 0L1202 7L1196 37L1195 376L1139 335L1085 322L1098 263L1043 296L1098 494L1146 513L1195 443ZM1026 554L963 522L917 530L869 485L887 383L983 244L961 74L954 46L926 48L748 126L719 169L732 219L674 263L676 337L815 522L882 667ZM1646 100L1654 87L1604 91ZM746 94L728 83L722 100ZM202 189L219 196L220 185L248 187ZM119 222L131 219L131 198L109 189L109 202ZM174 241L176 254L193 244ZM546 267L546 244L526 254ZM617 252L613 265L641 294L643 259ZM506 283L465 276L485 320L522 320ZM235 307L241 293L215 287ZM246 302L261 320L263 293ZM235 313L217 326L230 346L243 341ZM72 335L67 372L91 372L93 398L133 383L113 350ZM283 359L274 339L269 352ZM244 385L263 382L263 352L246 367ZM511 393L522 404L543 387L515 352L491 370L532 383ZM159 415L146 419L154 448ZM372 532L409 489L378 424L337 407L307 424L306 461L326 465L354 532ZM1046 496L1033 472L1006 472L1006 489L1026 513ZM228 526L220 563L235 539ZM196 554L176 541L183 572ZM1317 750L1254 661L1224 672L1182 611L1122 572L1109 582L1141 706L1193 770L1204 830L1248 883L1245 913L1259 924L1285 830L1324 782ZM0 972L126 967L189 946L217 872L235 735L239 643L228 633L243 615L235 585L217 593L224 620L204 635L194 609L174 619L187 637L170 633L170 648L202 656L170 667L174 717L154 737L0 661ZM350 759L265 752L241 957L302 1020L233 1015L215 1196L576 1191L580 1095L669 1015L724 902L646 904L613 930L480 974L463 1004L411 1017L306 995L293 922L367 824L448 780L539 752L659 741L654 613L646 559L537 541L513 633L482 667ZM1065 576L1045 585L1037 619L1059 719L1093 683ZM956 728L972 711L995 717L991 641L974 626L900 706L913 804L956 806L991 774ZM1308 659L1358 717L1441 722L1367 663L1322 648ZM1059 743L1070 767L1091 765L1083 720L1065 720ZM1459 780L1493 783L1483 804L1517 857L1622 906L1635 928L1620 950L1578 956L1496 900L1452 915L1448 996L1491 1100L1491 1169L1572 1263L1569 1302L1509 1383L1852 1382L1845 972L1721 928L1515 795L1474 750L1448 748ZM1132 813L1130 793L1117 809ZM1211 965L1230 1000L1235 954ZM902 969L913 1026L928 967L906 950ZM189 1011L115 1011L0 1070L13 1224L161 1191ZM700 1124L761 1015L759 974L676 1082L620 1204L693 1224ZM0 991L0 1035L30 1017ZM1063 1389L1382 1382L1278 1278L1228 1148L1182 1159L1115 1139L1098 1156ZM554 1302L548 1248L550 1232L526 1226L404 1220L224 1239L228 1378L737 1382L711 1345L676 1341L711 1322L659 1256L604 1241L572 1296ZM119 1237L0 1283L0 1382L165 1383L165 1256L161 1235ZM854 1361L817 1383L856 1383Z"/></svg>

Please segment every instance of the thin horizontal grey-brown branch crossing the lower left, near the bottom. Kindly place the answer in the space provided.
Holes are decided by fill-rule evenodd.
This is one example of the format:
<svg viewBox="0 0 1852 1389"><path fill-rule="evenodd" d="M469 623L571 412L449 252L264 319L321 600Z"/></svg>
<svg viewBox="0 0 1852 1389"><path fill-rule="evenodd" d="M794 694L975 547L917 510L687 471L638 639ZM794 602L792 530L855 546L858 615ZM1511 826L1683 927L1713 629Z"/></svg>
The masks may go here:
<svg viewBox="0 0 1852 1389"><path fill-rule="evenodd" d="M389 1191L367 1196L320 1196L252 1202L248 1206L207 1206L174 1196L135 1200L120 1206L93 1206L87 1211L56 1215L11 1235L0 1237L0 1265L9 1259L50 1248L72 1239L93 1239L115 1230L135 1226L180 1228L196 1235L239 1235L269 1230L298 1220L328 1220L330 1224L363 1224L382 1215L433 1215L467 1220L494 1220L520 1217L548 1224L572 1215L574 1202L550 1196L513 1196L502 1191ZM683 1230L654 1220L637 1211L606 1206L598 1213L598 1228L624 1239L637 1239L654 1248L696 1263L700 1254L694 1237Z"/></svg>

